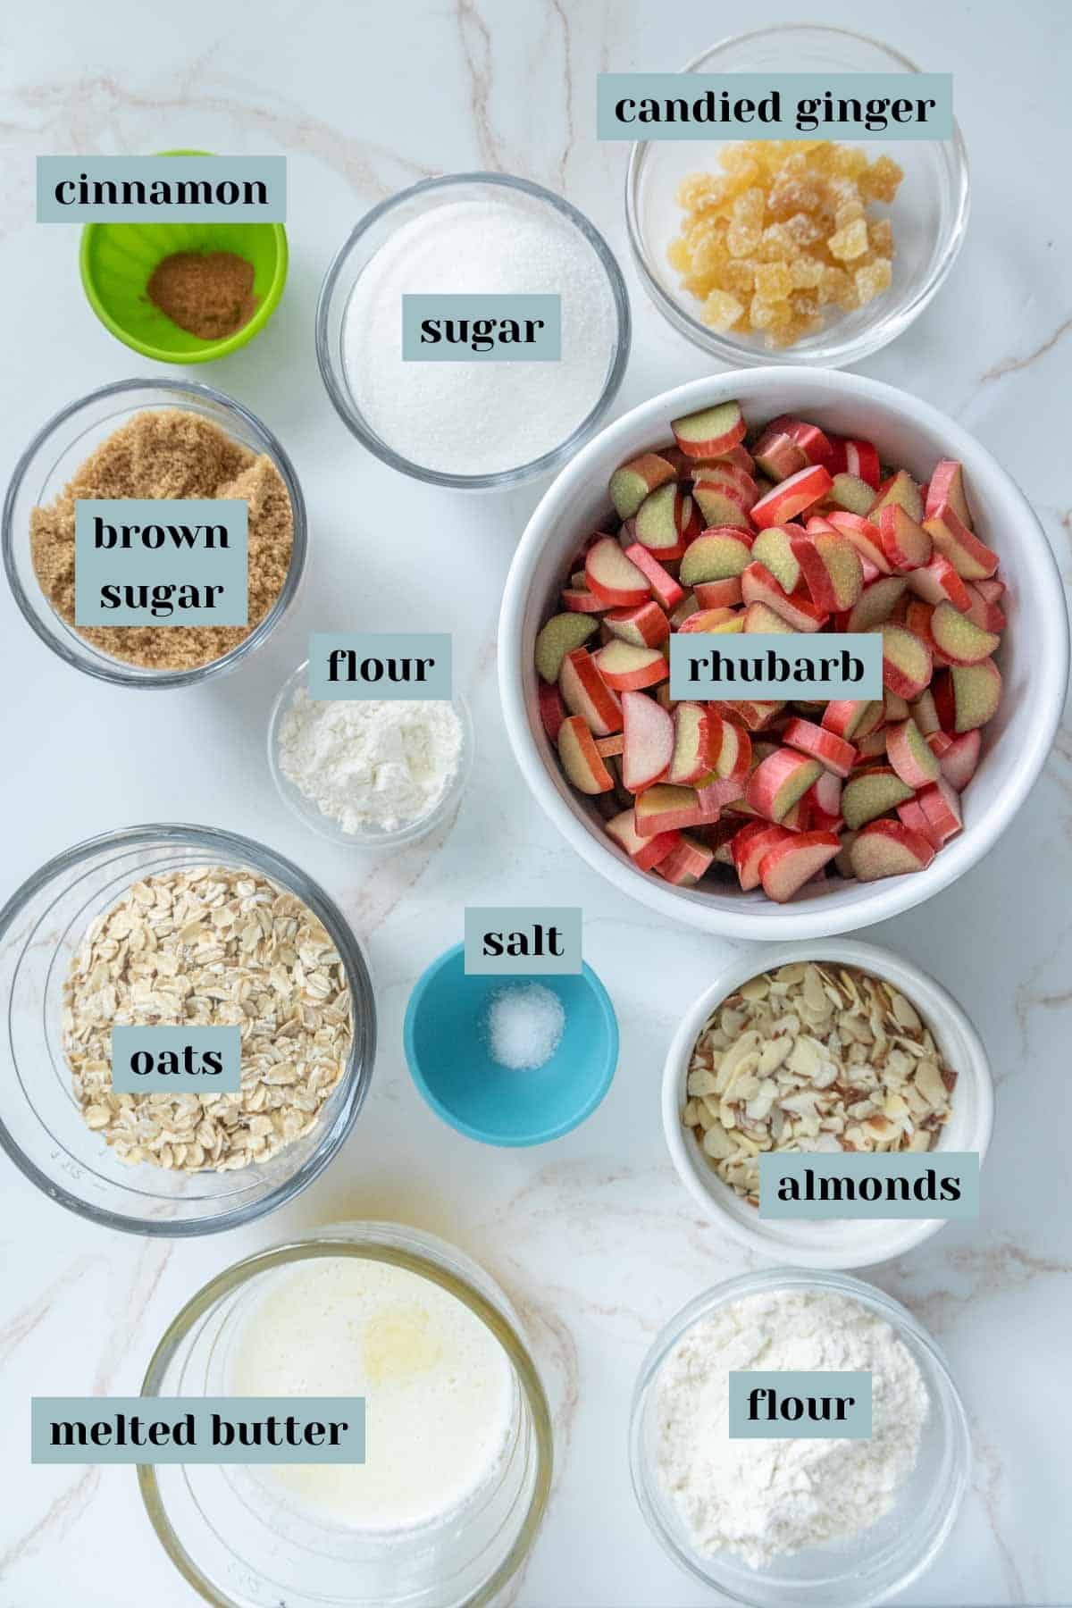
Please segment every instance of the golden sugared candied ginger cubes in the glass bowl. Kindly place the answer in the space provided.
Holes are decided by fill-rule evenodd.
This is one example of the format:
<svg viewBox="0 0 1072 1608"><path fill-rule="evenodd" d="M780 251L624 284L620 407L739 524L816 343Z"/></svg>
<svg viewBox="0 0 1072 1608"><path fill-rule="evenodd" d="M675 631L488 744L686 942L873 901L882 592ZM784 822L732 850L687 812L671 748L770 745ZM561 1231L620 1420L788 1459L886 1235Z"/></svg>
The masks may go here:
<svg viewBox="0 0 1072 1608"><path fill-rule="evenodd" d="M868 162L829 140L744 140L720 153L722 174L678 187L681 233L670 265L702 301L701 320L734 334L762 331L792 346L889 289L894 228L868 212L903 177L889 156Z"/></svg>

